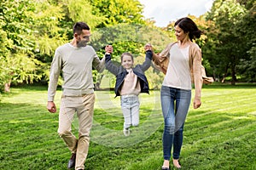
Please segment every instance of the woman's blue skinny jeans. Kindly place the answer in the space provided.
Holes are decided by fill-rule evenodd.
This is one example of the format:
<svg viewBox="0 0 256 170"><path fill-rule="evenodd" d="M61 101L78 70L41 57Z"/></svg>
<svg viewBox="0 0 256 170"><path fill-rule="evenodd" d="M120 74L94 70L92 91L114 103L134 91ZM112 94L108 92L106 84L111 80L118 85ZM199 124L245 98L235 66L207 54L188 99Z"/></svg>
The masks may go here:
<svg viewBox="0 0 256 170"><path fill-rule="evenodd" d="M163 133L164 159L170 160L173 145L173 159L178 159L183 144L183 125L188 115L191 90L161 87L162 112L165 120Z"/></svg>

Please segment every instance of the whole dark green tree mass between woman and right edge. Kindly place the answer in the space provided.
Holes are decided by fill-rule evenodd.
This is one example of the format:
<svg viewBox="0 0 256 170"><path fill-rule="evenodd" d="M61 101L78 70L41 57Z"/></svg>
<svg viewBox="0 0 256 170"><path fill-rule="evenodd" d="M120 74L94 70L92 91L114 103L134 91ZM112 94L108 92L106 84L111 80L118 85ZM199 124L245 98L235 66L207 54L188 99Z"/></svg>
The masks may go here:
<svg viewBox="0 0 256 170"><path fill-rule="evenodd" d="M255 1L215 1L207 14L207 61L216 78L255 82ZM254 4L253 4L254 3Z"/></svg>

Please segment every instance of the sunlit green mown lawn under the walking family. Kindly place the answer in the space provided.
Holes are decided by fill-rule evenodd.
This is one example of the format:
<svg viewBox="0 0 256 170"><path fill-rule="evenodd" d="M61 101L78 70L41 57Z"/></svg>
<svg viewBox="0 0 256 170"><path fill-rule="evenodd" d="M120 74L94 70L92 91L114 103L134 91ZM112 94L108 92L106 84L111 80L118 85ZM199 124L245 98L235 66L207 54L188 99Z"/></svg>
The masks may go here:
<svg viewBox="0 0 256 170"><path fill-rule="evenodd" d="M194 93L194 90L193 90ZM55 97L59 107L61 91ZM87 170L157 170L162 165L160 92L142 94L140 127L122 133L119 98L97 91ZM0 103L0 169L67 169L70 152L56 133L58 114L46 110L46 87L12 88ZM190 107L183 169L256 169L256 86L210 85ZM77 135L77 118L73 130Z"/></svg>

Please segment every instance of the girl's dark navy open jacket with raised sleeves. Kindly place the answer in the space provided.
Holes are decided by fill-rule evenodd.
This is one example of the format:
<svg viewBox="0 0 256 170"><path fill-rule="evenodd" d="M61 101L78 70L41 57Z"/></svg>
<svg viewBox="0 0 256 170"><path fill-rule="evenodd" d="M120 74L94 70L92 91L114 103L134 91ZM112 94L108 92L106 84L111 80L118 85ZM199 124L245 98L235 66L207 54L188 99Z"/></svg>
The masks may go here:
<svg viewBox="0 0 256 170"><path fill-rule="evenodd" d="M145 58L145 61L143 62L143 65L136 65L134 68L132 68L132 71L134 72L134 74L137 75L137 77L139 78L140 85L141 85L141 93L149 94L148 80L144 74L144 71L147 71L148 68L150 67L152 56L153 56L152 51L148 50L146 52L146 58ZM105 60L106 69L110 71L114 76L116 76L114 92L116 94L115 97L117 97L120 95L119 88L124 82L125 76L128 74L128 72L123 66L114 65L111 60L110 54L106 54L105 59L106 59Z"/></svg>

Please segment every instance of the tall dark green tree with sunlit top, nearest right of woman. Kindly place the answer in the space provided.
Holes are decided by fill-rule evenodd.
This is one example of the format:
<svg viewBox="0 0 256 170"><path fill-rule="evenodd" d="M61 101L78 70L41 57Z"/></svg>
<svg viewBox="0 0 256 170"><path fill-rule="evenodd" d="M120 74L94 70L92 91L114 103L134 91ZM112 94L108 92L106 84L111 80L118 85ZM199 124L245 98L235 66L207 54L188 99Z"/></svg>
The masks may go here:
<svg viewBox="0 0 256 170"><path fill-rule="evenodd" d="M218 77L224 73L222 82L229 74L231 83L236 83L236 66L245 58L243 42L245 37L239 34L239 24L246 9L236 0L216 0L207 20L212 21L207 31L207 59L215 65Z"/></svg>

